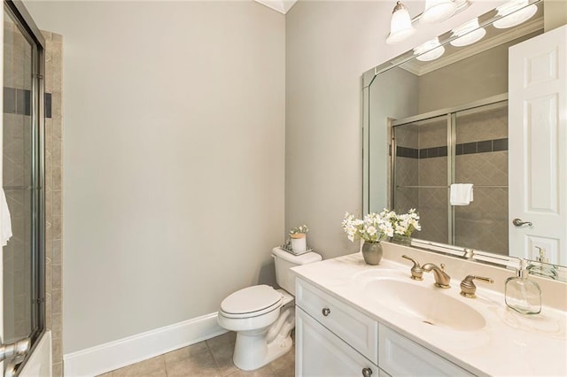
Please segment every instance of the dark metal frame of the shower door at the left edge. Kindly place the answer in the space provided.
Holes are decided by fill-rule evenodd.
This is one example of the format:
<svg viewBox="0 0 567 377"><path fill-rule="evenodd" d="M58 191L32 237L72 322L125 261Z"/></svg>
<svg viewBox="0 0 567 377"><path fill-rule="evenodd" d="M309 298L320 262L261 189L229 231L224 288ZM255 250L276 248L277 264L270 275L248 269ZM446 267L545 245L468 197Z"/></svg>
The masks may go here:
<svg viewBox="0 0 567 377"><path fill-rule="evenodd" d="M39 28L35 25L24 4L19 0L4 0L4 13L9 12L12 19L32 49L32 96L31 96L31 124L32 132L32 239L33 248L31 256L31 297L35 305L32 306L31 341L30 350L18 369L25 365L32 355L35 346L45 331L45 138L44 138L44 72L45 72L45 39ZM3 41L4 46L4 41ZM4 74L4 72L3 72ZM4 82L4 80L3 80ZM1 180L0 180L1 181ZM2 265L0 265L2 267ZM3 297L2 297L3 299ZM4 324L1 324L4 326ZM3 372L4 373L4 372Z"/></svg>

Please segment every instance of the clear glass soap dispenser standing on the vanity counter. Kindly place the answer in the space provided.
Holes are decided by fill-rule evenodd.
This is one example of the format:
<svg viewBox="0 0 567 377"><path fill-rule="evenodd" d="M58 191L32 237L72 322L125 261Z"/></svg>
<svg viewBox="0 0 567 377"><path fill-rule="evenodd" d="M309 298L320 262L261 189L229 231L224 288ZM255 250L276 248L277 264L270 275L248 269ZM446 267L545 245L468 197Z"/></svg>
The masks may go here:
<svg viewBox="0 0 567 377"><path fill-rule="evenodd" d="M541 312L541 289L538 283L529 279L527 260L520 260L517 276L506 280L504 287L506 305L521 314Z"/></svg>

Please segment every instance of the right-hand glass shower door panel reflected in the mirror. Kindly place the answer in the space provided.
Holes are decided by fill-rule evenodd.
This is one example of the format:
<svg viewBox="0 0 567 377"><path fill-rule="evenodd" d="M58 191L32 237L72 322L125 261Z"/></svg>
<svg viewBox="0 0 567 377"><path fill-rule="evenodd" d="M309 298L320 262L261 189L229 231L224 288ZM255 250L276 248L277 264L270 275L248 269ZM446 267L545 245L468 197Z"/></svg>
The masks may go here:
<svg viewBox="0 0 567 377"><path fill-rule="evenodd" d="M454 207L454 244L508 255L508 102L455 114L454 183L474 200Z"/></svg>

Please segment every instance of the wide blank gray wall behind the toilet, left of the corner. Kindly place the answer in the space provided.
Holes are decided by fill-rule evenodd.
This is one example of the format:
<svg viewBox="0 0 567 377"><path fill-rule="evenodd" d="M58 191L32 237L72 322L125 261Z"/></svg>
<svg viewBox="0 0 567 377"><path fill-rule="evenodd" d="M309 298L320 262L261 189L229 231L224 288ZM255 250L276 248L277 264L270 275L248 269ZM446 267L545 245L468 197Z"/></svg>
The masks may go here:
<svg viewBox="0 0 567 377"><path fill-rule="evenodd" d="M252 2L27 8L64 38L64 353L273 282L284 16Z"/></svg>

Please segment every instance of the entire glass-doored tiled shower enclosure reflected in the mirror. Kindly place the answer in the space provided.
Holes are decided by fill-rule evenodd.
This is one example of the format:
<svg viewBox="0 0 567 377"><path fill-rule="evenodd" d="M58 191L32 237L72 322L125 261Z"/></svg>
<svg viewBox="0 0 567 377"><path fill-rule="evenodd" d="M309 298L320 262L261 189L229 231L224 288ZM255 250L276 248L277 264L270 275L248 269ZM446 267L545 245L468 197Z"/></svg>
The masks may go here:
<svg viewBox="0 0 567 377"><path fill-rule="evenodd" d="M392 121L392 204L416 208L423 240L508 255L508 101ZM450 185L472 183L469 205L450 204Z"/></svg>

